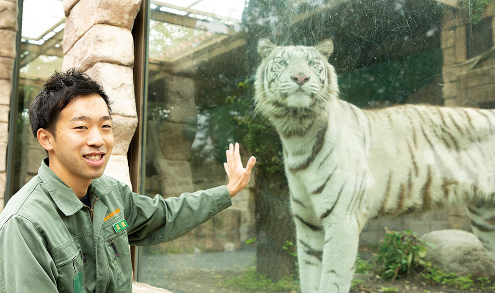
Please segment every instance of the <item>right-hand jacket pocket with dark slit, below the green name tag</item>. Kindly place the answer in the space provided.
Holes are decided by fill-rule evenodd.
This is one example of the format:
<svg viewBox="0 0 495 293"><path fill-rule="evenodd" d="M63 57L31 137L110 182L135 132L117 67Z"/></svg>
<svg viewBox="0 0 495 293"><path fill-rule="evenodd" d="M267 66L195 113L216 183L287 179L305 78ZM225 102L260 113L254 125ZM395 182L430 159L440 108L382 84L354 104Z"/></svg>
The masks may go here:
<svg viewBox="0 0 495 293"><path fill-rule="evenodd" d="M105 237L105 247L110 271L109 292L128 287L132 278L131 256L127 231Z"/></svg>

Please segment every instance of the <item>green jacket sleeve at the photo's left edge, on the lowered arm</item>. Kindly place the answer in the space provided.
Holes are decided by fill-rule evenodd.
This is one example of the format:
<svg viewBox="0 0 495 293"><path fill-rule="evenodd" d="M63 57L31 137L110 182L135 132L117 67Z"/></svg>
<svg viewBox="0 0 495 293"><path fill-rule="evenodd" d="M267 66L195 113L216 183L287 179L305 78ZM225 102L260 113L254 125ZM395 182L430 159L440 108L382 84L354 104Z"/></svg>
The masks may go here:
<svg viewBox="0 0 495 293"><path fill-rule="evenodd" d="M12 216L0 229L0 243L0 291L58 292L55 263L33 223Z"/></svg>

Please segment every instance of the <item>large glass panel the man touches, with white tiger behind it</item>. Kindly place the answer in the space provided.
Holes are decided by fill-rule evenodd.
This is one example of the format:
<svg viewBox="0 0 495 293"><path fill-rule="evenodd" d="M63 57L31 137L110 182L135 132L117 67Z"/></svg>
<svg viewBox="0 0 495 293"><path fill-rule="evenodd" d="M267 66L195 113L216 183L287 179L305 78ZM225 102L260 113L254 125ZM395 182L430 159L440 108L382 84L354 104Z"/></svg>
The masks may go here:
<svg viewBox="0 0 495 293"><path fill-rule="evenodd" d="M479 112L495 106L494 15L486 1L151 1L141 192L168 198L225 184L230 142L241 142L243 157L258 161L251 185L231 208L181 238L141 249L138 280L176 293L298 292L299 272L318 275L314 267L322 260L322 286L333 286L325 280L350 286L357 268L354 279L365 281L354 283L355 292L385 291L390 280L363 267L369 262L379 271L377 247L386 231L471 231L465 205L444 206L466 194L495 194L479 183L493 182L495 174L476 171L495 169L486 165L495 154L484 157L490 148L476 144L476 135L493 139L483 135L495 125L492 112ZM320 53L292 47L257 73L260 38L281 46L321 44ZM325 39L333 40L333 52ZM304 62L294 61L298 56ZM325 59L343 102L331 96L337 91L331 82L325 96L307 94L311 86L323 90L332 69L315 68ZM268 101L260 109L257 82L267 92L276 88L260 94L259 101ZM320 99L339 110L316 115ZM473 110L440 110L457 106ZM282 138L265 116L282 121ZM467 141L466 156L459 141ZM477 204L474 210L483 208ZM378 217L389 214L396 217ZM316 287L316 279L303 283ZM437 291L421 282L427 280L409 275L394 286Z"/></svg>

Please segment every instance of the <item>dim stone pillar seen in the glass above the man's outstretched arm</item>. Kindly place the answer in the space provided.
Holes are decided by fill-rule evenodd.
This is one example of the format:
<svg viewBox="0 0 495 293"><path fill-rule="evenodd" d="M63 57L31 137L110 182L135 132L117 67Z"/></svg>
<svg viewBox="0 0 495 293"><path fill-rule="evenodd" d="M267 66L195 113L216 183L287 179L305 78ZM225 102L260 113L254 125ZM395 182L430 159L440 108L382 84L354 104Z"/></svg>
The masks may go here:
<svg viewBox="0 0 495 293"><path fill-rule="evenodd" d="M192 192L192 173L189 162L191 145L196 134L196 105L194 81L189 77L163 74L160 86L164 96L157 98L155 107L161 114L147 122L146 162L156 166L160 176L159 192L164 198ZM148 112L157 110L150 109ZM160 112L160 111L159 111Z"/></svg>

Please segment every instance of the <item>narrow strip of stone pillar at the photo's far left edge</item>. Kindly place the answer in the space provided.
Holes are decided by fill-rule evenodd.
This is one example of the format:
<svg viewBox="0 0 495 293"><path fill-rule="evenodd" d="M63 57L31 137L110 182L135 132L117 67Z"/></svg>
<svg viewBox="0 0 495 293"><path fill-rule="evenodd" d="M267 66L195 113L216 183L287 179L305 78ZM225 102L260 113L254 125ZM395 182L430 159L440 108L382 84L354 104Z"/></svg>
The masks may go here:
<svg viewBox="0 0 495 293"><path fill-rule="evenodd" d="M4 208L12 77L16 58L17 0L0 0L0 212Z"/></svg>

